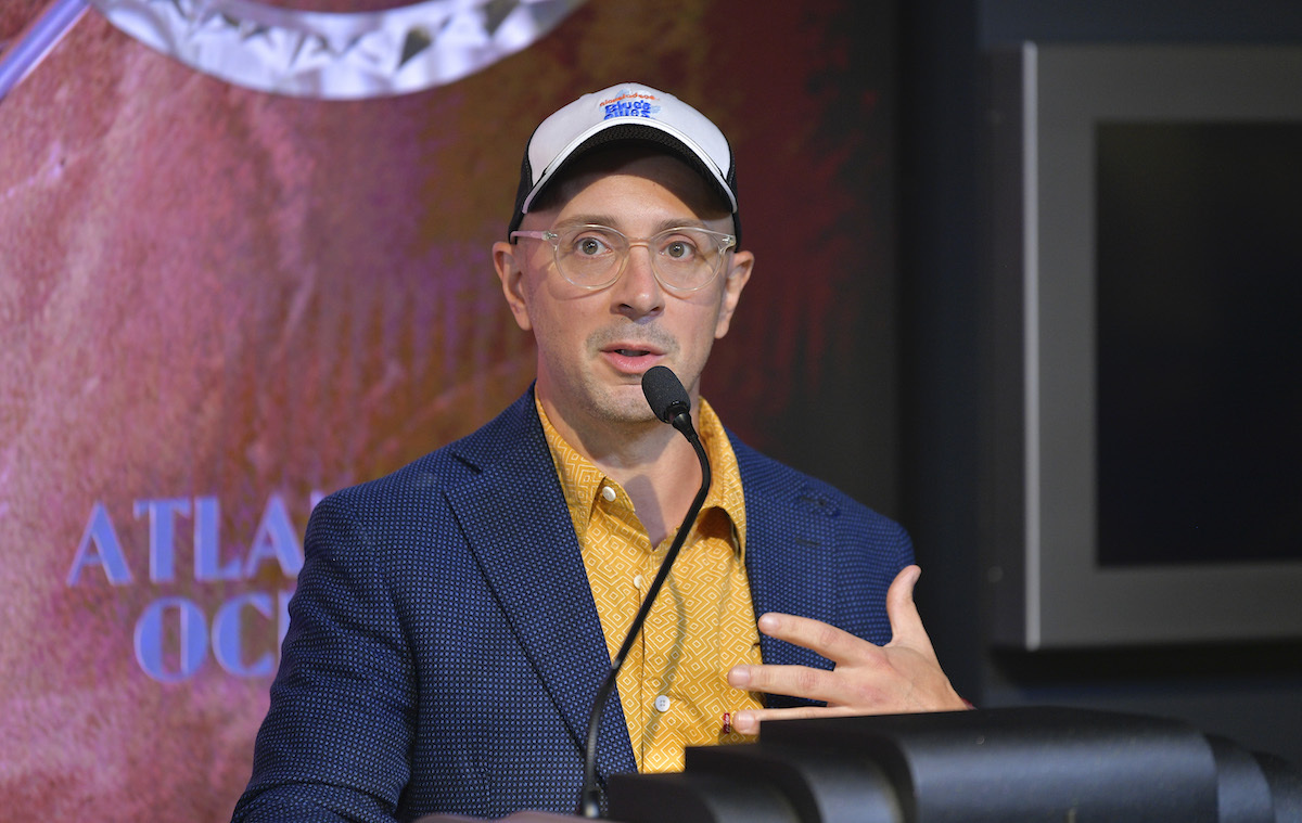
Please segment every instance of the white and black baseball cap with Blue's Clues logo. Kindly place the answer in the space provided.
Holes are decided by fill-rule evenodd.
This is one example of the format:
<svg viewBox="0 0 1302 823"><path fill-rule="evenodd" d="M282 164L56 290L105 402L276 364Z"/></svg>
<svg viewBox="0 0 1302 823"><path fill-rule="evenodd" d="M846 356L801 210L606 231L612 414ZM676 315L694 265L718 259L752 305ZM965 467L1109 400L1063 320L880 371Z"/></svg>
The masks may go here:
<svg viewBox="0 0 1302 823"><path fill-rule="evenodd" d="M519 228L538 195L570 163L598 146L622 141L655 143L700 173L728 202L733 233L741 236L737 169L728 138L678 98L642 83L586 94L539 124L525 148L508 234Z"/></svg>

